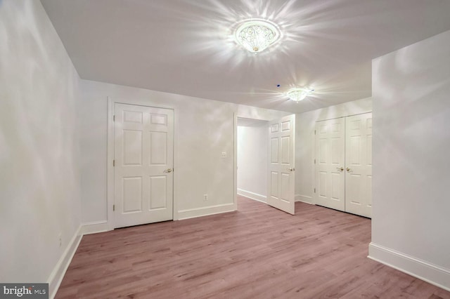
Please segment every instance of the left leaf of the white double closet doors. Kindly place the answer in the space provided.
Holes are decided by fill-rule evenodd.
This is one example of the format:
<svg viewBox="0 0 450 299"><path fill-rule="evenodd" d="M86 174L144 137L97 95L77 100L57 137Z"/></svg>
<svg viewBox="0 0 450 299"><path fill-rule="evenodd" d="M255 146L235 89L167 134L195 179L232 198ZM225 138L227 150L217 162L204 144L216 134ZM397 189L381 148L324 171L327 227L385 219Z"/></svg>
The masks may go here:
<svg viewBox="0 0 450 299"><path fill-rule="evenodd" d="M316 123L316 204L345 211L345 119Z"/></svg>

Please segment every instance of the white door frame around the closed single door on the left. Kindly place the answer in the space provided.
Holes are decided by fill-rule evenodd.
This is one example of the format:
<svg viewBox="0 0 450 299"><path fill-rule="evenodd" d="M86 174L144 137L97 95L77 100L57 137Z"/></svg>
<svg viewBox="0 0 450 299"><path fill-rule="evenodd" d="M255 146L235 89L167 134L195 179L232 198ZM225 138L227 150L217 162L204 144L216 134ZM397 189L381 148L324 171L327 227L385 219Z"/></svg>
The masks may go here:
<svg viewBox="0 0 450 299"><path fill-rule="evenodd" d="M171 106L166 105L153 105L151 100L148 99L142 99L142 100L136 100L136 99L124 99L124 98L110 98L107 97L107 128L108 128L108 138L107 138L107 146L108 146L108 152L107 152L107 179L106 179L106 227L105 230L114 230L114 211L113 211L113 205L114 205L114 166L113 166L113 160L114 160L114 107L116 103L120 104L127 104L127 105L137 105L137 106L146 106L146 107L154 107L154 108L163 108L163 109L172 109L174 111L174 164L172 168L176 170L176 166L178 165L178 116L176 114L176 109ZM174 182L173 182L173 220L178 220L178 194L176 193L176 181L177 181L177 175L176 171L174 171Z"/></svg>

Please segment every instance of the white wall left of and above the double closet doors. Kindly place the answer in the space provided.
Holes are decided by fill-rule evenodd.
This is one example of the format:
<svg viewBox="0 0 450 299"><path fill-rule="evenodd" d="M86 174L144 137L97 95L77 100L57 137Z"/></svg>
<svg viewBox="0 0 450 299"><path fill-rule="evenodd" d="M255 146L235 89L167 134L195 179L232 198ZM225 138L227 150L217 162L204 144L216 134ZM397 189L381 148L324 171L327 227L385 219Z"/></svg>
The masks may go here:
<svg viewBox="0 0 450 299"><path fill-rule="evenodd" d="M366 98L296 115L295 200L314 204L314 128L316 121L371 111L372 99Z"/></svg>

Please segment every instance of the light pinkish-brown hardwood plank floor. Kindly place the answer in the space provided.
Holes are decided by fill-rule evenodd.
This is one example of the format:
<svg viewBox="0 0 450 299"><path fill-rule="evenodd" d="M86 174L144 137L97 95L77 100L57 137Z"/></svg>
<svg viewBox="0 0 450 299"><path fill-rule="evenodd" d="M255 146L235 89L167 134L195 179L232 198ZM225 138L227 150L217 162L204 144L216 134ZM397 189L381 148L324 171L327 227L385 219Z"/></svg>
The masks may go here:
<svg viewBox="0 0 450 299"><path fill-rule="evenodd" d="M84 236L56 298L450 298L369 260L371 220L296 203Z"/></svg>

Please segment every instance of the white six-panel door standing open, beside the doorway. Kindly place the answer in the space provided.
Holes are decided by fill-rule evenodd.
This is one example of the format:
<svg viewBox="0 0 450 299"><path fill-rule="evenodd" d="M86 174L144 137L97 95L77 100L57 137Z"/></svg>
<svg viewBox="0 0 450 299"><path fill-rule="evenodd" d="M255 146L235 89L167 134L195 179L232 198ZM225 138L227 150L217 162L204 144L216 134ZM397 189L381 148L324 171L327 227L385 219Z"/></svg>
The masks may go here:
<svg viewBox="0 0 450 299"><path fill-rule="evenodd" d="M267 204L295 214L295 114L269 121Z"/></svg>

